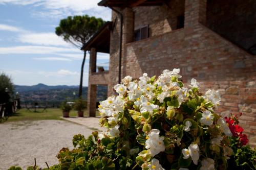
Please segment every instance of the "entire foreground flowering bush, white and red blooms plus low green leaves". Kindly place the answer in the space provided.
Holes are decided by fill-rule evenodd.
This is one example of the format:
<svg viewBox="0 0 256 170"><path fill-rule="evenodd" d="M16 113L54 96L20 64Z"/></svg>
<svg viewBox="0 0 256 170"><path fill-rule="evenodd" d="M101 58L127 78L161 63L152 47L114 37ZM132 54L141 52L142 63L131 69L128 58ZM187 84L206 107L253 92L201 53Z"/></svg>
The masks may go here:
<svg viewBox="0 0 256 170"><path fill-rule="evenodd" d="M125 77L114 87L119 95L98 108L108 130L75 135L75 149L57 155L59 169L255 169L255 151L245 146L236 116L214 110L219 92L201 93L195 79L184 87L179 71L164 70L157 80Z"/></svg>

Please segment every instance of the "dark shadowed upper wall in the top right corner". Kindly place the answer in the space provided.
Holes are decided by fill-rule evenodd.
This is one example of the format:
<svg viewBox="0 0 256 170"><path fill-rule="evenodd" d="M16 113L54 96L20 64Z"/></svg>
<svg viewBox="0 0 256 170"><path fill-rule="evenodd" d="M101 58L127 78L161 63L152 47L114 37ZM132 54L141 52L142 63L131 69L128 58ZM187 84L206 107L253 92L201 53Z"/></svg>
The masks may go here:
<svg viewBox="0 0 256 170"><path fill-rule="evenodd" d="M244 49L256 44L255 0L208 0L207 27Z"/></svg>

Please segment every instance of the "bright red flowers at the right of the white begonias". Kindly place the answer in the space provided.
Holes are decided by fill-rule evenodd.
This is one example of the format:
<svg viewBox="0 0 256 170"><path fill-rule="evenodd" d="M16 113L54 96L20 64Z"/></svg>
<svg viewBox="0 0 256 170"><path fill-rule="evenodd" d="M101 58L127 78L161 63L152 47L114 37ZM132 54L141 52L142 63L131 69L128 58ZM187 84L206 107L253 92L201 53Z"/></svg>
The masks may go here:
<svg viewBox="0 0 256 170"><path fill-rule="evenodd" d="M240 115L242 115L242 113L240 113ZM243 134L244 129L238 125L239 124L238 116L234 115L229 118L225 117L225 119L226 119L226 123L228 124L228 127L232 133L232 137L238 138L240 145L242 145L242 146L246 145L249 142L249 140L248 140L246 134Z"/></svg>

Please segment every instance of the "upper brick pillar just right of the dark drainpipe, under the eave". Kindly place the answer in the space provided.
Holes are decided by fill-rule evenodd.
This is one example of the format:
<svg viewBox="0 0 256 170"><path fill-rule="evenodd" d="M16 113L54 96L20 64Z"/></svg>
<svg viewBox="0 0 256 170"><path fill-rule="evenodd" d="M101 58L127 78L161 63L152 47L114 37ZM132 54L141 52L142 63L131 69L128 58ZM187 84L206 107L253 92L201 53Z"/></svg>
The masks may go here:
<svg viewBox="0 0 256 170"><path fill-rule="evenodd" d="M134 12L132 8L123 10L123 42L132 42L134 37Z"/></svg>

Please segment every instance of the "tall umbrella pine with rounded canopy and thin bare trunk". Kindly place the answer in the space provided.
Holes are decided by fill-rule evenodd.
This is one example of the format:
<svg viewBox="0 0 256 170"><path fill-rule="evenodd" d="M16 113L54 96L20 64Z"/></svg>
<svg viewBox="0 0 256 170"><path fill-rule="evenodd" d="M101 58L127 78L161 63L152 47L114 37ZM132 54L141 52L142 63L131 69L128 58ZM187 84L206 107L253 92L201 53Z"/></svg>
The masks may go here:
<svg viewBox="0 0 256 170"><path fill-rule="evenodd" d="M87 41L104 25L105 21L101 18L84 16L69 16L66 19L61 19L59 26L55 28L55 33L61 36L65 41L72 43L77 48L87 43ZM84 50L80 86L79 86L79 98L82 96L82 77L83 66L86 61L86 51Z"/></svg>

